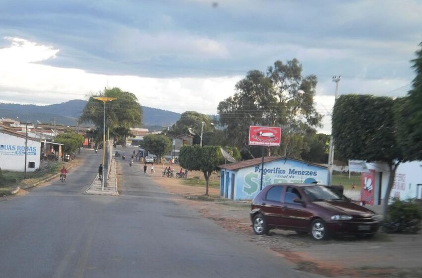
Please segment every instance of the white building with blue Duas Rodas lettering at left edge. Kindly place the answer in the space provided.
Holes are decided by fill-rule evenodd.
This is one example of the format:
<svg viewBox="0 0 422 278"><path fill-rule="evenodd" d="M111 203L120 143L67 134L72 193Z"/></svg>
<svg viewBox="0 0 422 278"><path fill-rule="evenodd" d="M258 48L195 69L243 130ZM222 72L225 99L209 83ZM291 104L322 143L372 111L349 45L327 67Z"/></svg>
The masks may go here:
<svg viewBox="0 0 422 278"><path fill-rule="evenodd" d="M40 168L41 142L29 138L26 147L26 171ZM25 169L25 136L0 130L0 168L23 172Z"/></svg>

